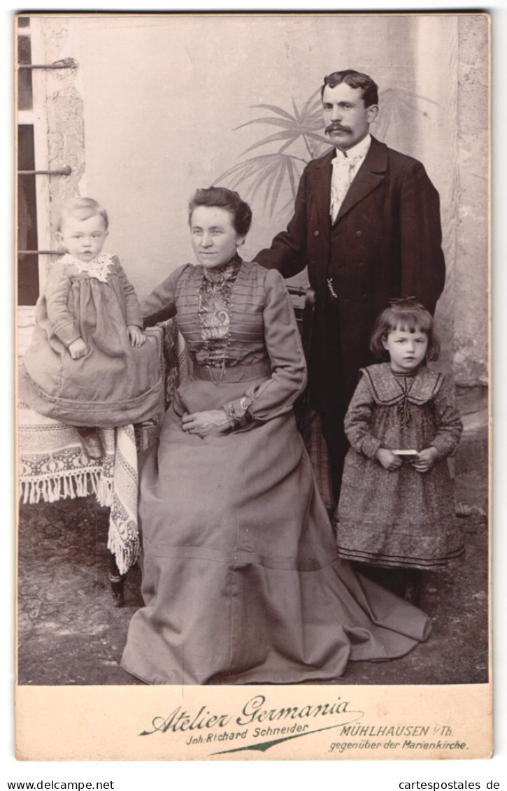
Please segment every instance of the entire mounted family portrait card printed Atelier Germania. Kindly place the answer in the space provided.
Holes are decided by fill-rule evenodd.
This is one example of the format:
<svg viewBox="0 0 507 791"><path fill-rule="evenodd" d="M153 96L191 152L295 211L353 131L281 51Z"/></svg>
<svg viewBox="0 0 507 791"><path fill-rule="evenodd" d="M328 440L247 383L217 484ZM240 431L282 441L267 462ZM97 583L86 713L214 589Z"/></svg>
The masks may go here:
<svg viewBox="0 0 507 791"><path fill-rule="evenodd" d="M14 24L18 755L488 757L490 17Z"/></svg>

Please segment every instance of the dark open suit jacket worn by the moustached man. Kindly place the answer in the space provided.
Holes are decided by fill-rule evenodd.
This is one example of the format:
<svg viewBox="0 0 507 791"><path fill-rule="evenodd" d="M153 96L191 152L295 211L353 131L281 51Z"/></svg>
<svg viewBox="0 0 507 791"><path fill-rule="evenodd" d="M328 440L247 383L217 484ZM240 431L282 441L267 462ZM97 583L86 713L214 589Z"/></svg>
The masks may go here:
<svg viewBox="0 0 507 791"><path fill-rule="evenodd" d="M369 338L378 313L391 297L414 295L433 313L445 282L437 190L423 165L372 137L365 161L339 210L329 216L331 161L335 149L310 162L301 176L294 215L270 249L255 260L285 278L308 265L316 290L310 354L311 402L332 408L327 374L336 361L326 354L326 312L339 310L342 388L346 401L358 370L373 362ZM331 297L327 279L337 299ZM335 305L333 305L334 303Z"/></svg>

